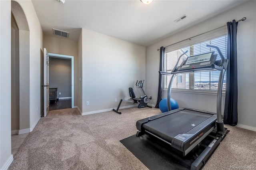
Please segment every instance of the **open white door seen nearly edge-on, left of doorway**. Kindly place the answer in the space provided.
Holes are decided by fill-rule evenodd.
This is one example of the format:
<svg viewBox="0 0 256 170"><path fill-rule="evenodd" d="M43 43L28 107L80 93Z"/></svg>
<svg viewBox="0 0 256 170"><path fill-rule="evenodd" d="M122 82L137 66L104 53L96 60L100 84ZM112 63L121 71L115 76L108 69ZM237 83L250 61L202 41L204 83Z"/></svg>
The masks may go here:
<svg viewBox="0 0 256 170"><path fill-rule="evenodd" d="M49 112L49 55L44 48L44 117Z"/></svg>

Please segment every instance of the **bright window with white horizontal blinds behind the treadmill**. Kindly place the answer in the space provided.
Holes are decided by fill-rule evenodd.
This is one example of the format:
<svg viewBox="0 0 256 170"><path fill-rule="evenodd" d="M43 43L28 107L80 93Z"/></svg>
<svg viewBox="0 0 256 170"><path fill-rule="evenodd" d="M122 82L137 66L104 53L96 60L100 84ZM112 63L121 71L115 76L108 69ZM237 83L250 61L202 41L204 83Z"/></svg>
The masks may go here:
<svg viewBox="0 0 256 170"><path fill-rule="evenodd" d="M200 53L207 53L210 51L215 51L210 47L206 47L206 44L216 45L220 48L220 51L226 58L226 47L227 47L227 35L220 36L211 40L204 42L196 43L187 47L176 49L173 51L166 51L164 58L164 69L166 72L171 72L173 67L178 61L178 57L184 53L186 50L188 52L182 56L178 65L182 63L186 57L192 55L198 55ZM217 59L220 59L218 55ZM188 90L217 90L218 89L218 80L219 80L220 71L201 71L195 73L182 73L178 74L172 83L172 89L188 89ZM164 75L164 89L168 89L171 76ZM226 89L226 75L224 77L223 89Z"/></svg>

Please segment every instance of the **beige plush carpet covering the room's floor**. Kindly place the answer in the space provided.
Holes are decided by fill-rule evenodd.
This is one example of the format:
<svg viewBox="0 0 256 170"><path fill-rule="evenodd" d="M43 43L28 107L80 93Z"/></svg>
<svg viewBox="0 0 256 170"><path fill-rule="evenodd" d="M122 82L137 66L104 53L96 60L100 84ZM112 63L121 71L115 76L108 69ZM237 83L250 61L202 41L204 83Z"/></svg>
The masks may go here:
<svg viewBox="0 0 256 170"><path fill-rule="evenodd" d="M159 109L122 109L81 116L77 109L50 111L42 117L14 156L10 170L144 170L119 140L136 134L136 121ZM256 169L256 132L230 130L203 170ZM240 169L242 169L240 168Z"/></svg>

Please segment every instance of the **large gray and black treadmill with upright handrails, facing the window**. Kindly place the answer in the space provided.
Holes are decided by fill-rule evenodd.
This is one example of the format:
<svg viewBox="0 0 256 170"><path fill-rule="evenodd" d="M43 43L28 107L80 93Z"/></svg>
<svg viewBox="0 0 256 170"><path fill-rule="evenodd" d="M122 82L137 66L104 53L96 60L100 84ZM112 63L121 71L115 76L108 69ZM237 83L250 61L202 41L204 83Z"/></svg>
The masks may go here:
<svg viewBox="0 0 256 170"><path fill-rule="evenodd" d="M217 54L214 54L214 51L212 51L187 57L186 60L182 61L180 66L178 66L180 58L187 53L187 51L184 52L178 58L171 73L160 71L161 74L172 75L167 93L168 112L136 122L138 129L137 137L144 134L154 136L172 146L172 150L182 156L186 156L195 147L199 146L206 136L214 136L212 142L205 147L204 151L197 156L192 163L192 170L198 170L204 166L228 132L227 128L224 128L221 109L222 85L228 59L224 58L217 46L206 46L215 48L221 59L216 60ZM176 74L214 70L220 71L217 91L217 113L189 108L172 110L170 105L171 87Z"/></svg>

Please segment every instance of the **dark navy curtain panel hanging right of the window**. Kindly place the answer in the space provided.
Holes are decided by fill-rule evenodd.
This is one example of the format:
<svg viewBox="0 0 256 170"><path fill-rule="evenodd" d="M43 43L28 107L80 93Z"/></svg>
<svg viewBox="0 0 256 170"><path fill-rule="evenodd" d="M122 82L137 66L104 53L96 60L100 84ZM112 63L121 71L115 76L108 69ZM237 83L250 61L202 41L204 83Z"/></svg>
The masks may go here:
<svg viewBox="0 0 256 170"><path fill-rule="evenodd" d="M228 22L228 47L227 59L229 64L226 70L226 98L224 109L224 124L231 126L237 125L237 51L236 34L238 22Z"/></svg>

